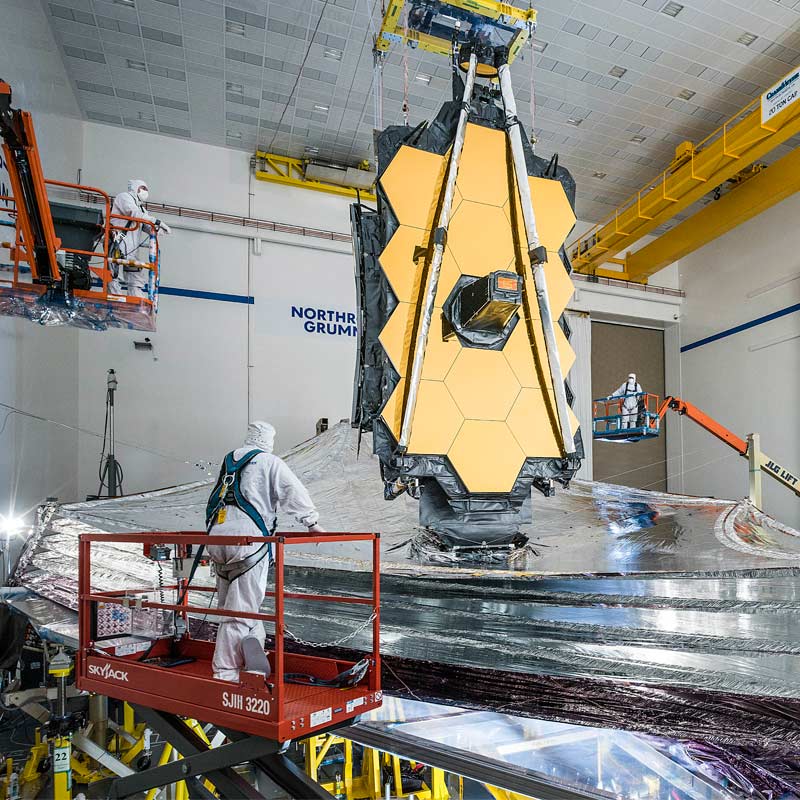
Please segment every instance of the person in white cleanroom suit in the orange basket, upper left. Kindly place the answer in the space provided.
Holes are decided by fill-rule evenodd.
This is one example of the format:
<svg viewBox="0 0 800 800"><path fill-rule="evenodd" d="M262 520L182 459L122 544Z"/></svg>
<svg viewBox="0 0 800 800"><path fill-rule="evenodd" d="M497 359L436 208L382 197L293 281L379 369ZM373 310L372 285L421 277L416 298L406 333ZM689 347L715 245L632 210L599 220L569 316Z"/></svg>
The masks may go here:
<svg viewBox="0 0 800 800"><path fill-rule="evenodd" d="M151 216L145 208L148 197L147 184L138 178L131 178L128 181L128 191L120 192L114 198L114 205L111 207L112 217L120 214L123 217L136 217L137 219L152 220L153 225L159 233L171 233L169 225ZM111 255L122 259L133 259L148 263L150 256L150 233L149 225L142 225L130 220L113 219L112 225L124 227L124 231L112 231L113 242ZM109 294L122 294L122 281L120 275L124 269L125 282L128 285L128 295L130 297L146 297L147 282L150 278L150 271L145 267L120 267L118 264L112 265L111 271L114 280L108 285Z"/></svg>

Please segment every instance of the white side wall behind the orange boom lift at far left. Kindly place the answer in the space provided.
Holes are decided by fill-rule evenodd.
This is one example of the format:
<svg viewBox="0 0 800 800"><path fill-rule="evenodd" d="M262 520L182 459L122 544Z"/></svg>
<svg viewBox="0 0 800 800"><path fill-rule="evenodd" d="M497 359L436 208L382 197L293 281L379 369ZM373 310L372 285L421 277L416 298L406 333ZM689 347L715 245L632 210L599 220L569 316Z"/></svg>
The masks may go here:
<svg viewBox="0 0 800 800"><path fill-rule="evenodd" d="M11 84L14 107L35 112L45 175L75 180L83 126L44 10L4 0L2 26L0 76ZM0 181L7 183L3 174ZM75 330L0 317L0 402L68 426L0 408L0 514L25 515L47 496L77 495L77 342Z"/></svg>

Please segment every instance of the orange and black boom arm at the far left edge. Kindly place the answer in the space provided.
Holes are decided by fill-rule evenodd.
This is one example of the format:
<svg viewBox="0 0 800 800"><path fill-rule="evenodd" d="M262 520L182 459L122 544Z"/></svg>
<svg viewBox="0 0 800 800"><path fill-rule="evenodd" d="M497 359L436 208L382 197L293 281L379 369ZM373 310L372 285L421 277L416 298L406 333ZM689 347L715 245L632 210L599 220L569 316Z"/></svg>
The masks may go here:
<svg viewBox="0 0 800 800"><path fill-rule="evenodd" d="M16 246L24 253L35 283L54 285L61 280L56 251L61 240L55 234L47 188L27 111L11 108L11 87L0 80L0 138L14 197L19 235Z"/></svg>

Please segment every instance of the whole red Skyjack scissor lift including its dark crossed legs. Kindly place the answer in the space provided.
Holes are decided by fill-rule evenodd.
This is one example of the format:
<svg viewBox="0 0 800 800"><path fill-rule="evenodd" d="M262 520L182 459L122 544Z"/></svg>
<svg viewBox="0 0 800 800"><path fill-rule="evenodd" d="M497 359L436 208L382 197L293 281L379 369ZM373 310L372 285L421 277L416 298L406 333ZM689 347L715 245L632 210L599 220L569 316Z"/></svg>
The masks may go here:
<svg viewBox="0 0 800 800"><path fill-rule="evenodd" d="M274 591L267 592L267 597L274 598L274 612L271 614L192 606L188 600L186 578L179 578L174 584L162 585L157 589L151 585L114 591L92 590L91 549L94 543L134 542L144 545L146 551L153 546L168 545L174 548L174 554L191 562L192 548L196 553L201 545L247 545L265 541L274 548L275 559L274 570L271 570L274 574ZM371 547L372 590L369 596L312 595L286 590L284 569L287 546L339 542L365 542ZM127 796L129 792L144 791L173 780L184 780L186 774L203 774L214 783L221 797L230 794L258 798L261 795L253 794L252 787L242 794L245 787L230 769L234 764L248 761L261 766L273 781L284 788L288 789L294 781L292 796L328 797L322 790L317 791L319 787L310 784L290 763L275 759L282 743L341 727L381 705L379 544L379 535L374 533L280 533L267 538L213 536L198 532L82 534L79 544L80 632L76 685L79 689L133 704L137 713L184 756L184 762L189 760L189 773L180 774L174 766L163 765L117 779L114 796ZM214 590L192 584L191 591L210 593ZM162 598L161 595L169 592L174 593L176 602L163 602L169 598ZM369 612L366 622L371 626L372 647L368 654L369 666L355 686L336 688L294 683L285 679L285 675L301 674L329 681L355 666L350 661L288 652L284 646L286 600L307 603L309 606L315 603L342 603L365 607L365 615ZM100 638L98 610L107 613L109 607L123 609L126 614L172 612L176 621L183 621L184 624L180 626L182 632L178 636L168 633L155 639L144 653L141 649L130 652L130 644L124 637L120 639L118 632L112 631L105 641ZM274 647L267 653L271 675L265 679L262 674L242 671L239 683L216 680L211 669L214 643L192 638L189 633L192 616L209 619L233 616L271 623L274 627ZM164 658L159 659L159 656ZM170 663L174 666L166 666ZM229 743L210 749L193 735L191 728L183 723L183 718L214 725L226 734ZM220 763L223 763L223 767L219 766ZM184 768L187 764L184 764Z"/></svg>

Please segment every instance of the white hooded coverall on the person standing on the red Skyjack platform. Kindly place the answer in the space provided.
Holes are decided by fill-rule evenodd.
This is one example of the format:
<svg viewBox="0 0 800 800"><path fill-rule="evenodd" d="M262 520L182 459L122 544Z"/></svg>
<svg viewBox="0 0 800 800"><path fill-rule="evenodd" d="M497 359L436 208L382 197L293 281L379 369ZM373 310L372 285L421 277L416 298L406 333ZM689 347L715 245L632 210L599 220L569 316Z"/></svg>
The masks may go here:
<svg viewBox="0 0 800 800"><path fill-rule="evenodd" d="M319 514L311 496L299 478L277 456L272 454L275 429L265 422L251 423L243 447L234 450L238 461L254 449L265 452L257 455L241 472L240 489L245 499L255 506L270 530L275 527L278 509L294 516L302 525L316 526ZM226 506L225 521L211 528L212 536L260 536L261 531L247 514L236 506ZM260 542L245 546L213 545L208 554L217 564L233 564L247 558L261 547ZM229 582L217 576L218 607L231 611L258 612L267 589L269 557L265 556L252 569ZM212 667L214 677L223 681L238 681L244 665L242 640L254 636L264 646L264 623L257 619L217 617L217 644Z"/></svg>

